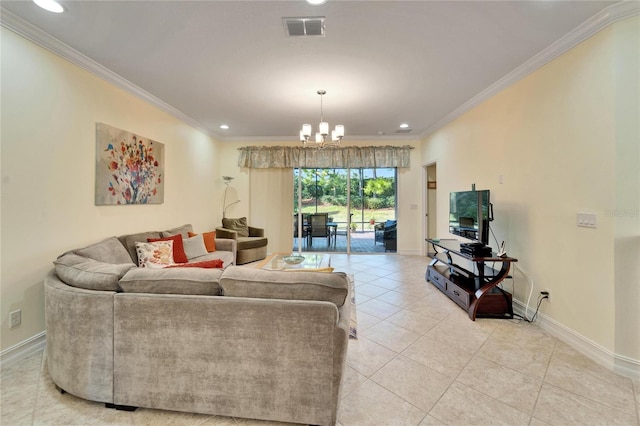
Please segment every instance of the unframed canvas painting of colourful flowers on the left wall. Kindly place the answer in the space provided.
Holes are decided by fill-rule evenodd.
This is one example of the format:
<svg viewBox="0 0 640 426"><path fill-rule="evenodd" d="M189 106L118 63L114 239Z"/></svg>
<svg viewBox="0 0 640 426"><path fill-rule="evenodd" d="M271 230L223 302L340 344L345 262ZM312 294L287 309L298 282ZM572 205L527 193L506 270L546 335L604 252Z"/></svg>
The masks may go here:
<svg viewBox="0 0 640 426"><path fill-rule="evenodd" d="M162 204L164 144L96 123L96 205Z"/></svg>

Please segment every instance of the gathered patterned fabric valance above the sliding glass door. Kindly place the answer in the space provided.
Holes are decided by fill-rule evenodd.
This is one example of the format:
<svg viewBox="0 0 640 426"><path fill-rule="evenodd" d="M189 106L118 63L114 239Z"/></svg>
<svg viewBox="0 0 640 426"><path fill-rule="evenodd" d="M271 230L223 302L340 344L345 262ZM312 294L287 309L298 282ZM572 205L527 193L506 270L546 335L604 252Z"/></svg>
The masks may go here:
<svg viewBox="0 0 640 426"><path fill-rule="evenodd" d="M345 146L316 149L299 146L244 146L238 148L239 167L355 169L410 166L412 146Z"/></svg>

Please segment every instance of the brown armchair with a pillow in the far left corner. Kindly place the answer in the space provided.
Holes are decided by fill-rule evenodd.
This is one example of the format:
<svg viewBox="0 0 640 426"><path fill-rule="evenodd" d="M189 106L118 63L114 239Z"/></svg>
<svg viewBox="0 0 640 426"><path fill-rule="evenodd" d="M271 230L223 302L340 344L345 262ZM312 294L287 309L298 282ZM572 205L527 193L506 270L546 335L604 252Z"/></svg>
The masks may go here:
<svg viewBox="0 0 640 426"><path fill-rule="evenodd" d="M267 257L268 240L263 228L247 225L247 218L223 218L222 226L216 228L217 238L236 240L236 265L255 262Z"/></svg>

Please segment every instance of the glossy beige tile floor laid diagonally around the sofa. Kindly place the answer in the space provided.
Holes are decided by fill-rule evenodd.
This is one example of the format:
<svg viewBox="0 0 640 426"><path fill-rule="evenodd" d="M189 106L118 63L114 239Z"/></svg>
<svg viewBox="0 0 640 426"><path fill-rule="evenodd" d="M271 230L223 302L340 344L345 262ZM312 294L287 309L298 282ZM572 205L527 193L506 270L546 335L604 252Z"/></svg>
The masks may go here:
<svg viewBox="0 0 640 426"><path fill-rule="evenodd" d="M536 325L466 314L424 281L427 259L332 255L356 281L338 421L360 425L638 425L640 381L616 375ZM0 424L269 425L59 394L43 353L3 369Z"/></svg>

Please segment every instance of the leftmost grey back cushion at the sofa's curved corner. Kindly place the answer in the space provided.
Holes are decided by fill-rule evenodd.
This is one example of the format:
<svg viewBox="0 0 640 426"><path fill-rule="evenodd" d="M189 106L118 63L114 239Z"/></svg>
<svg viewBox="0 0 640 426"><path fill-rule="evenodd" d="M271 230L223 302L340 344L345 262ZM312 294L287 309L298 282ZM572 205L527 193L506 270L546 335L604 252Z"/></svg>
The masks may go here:
<svg viewBox="0 0 640 426"><path fill-rule="evenodd" d="M119 281L130 269L138 269L131 263L105 263L73 253L56 259L53 264L58 278L72 287L87 290L120 291Z"/></svg>

